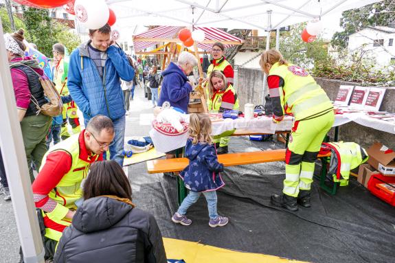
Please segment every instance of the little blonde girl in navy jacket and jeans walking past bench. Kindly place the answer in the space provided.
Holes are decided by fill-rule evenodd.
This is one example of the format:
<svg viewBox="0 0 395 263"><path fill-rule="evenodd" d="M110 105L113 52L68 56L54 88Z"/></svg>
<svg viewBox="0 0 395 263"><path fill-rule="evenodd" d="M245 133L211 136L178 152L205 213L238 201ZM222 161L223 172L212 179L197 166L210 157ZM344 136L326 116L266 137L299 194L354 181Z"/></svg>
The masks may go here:
<svg viewBox="0 0 395 263"><path fill-rule="evenodd" d="M185 214L187 209L198 201L202 192L207 201L210 227L223 227L229 222L228 218L219 216L216 210L216 190L223 187L225 183L219 174L223 172L223 164L218 163L211 132L211 120L208 115L196 113L190 115L190 137L185 146L185 157L190 163L179 174L190 192L172 216L172 221L175 223L192 224L192 220Z"/></svg>

